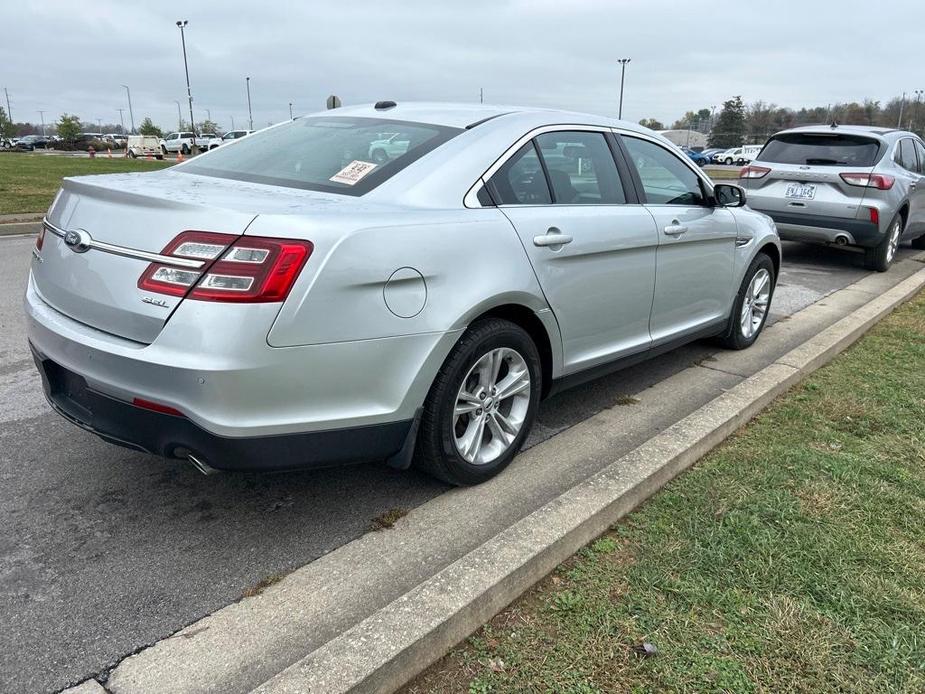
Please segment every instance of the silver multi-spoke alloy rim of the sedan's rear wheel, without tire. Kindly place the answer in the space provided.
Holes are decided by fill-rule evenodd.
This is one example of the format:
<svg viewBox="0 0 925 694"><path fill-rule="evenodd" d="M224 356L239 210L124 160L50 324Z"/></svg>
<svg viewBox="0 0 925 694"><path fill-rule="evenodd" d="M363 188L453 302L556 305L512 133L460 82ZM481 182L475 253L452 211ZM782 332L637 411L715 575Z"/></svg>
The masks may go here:
<svg viewBox="0 0 925 694"><path fill-rule="evenodd" d="M531 386L527 362L508 347L472 365L453 410L453 437L463 459L487 465L508 451L526 420Z"/></svg>

